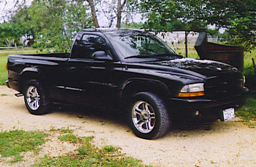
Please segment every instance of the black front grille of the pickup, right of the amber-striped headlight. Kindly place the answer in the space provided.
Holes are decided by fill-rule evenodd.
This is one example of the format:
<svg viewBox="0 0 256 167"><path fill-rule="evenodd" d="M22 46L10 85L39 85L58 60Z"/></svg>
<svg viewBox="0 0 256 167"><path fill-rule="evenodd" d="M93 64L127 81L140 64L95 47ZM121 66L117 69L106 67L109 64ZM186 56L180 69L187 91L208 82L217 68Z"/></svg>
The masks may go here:
<svg viewBox="0 0 256 167"><path fill-rule="evenodd" d="M230 99L241 95L243 75L227 73L206 79L204 86L205 97L215 100Z"/></svg>

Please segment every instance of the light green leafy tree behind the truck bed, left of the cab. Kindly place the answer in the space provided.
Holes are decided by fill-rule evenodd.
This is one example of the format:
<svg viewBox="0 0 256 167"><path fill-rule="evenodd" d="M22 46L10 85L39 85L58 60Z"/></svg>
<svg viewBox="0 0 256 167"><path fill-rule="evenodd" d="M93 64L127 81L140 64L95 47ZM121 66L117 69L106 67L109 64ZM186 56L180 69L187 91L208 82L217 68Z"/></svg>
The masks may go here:
<svg viewBox="0 0 256 167"><path fill-rule="evenodd" d="M23 27L24 35L33 35L33 45L41 51L68 52L76 33L92 25L88 6L67 0L34 1L30 7L20 7L11 23Z"/></svg>

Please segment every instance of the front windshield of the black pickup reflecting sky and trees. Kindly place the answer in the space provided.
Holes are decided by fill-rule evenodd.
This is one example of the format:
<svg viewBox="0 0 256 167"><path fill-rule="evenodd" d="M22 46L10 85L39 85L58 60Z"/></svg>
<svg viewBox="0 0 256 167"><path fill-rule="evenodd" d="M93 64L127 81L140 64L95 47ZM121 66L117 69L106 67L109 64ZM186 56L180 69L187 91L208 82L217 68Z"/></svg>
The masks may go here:
<svg viewBox="0 0 256 167"><path fill-rule="evenodd" d="M109 37L115 50L123 58L157 58L178 55L157 36L139 31L113 31Z"/></svg>

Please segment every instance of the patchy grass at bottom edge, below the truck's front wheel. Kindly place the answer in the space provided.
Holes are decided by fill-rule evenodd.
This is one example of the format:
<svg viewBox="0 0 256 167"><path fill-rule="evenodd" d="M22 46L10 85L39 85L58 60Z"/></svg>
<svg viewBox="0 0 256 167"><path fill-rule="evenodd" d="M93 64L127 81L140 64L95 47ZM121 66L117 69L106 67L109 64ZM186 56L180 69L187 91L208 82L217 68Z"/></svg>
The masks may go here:
<svg viewBox="0 0 256 167"><path fill-rule="evenodd" d="M75 137L78 139L77 144L80 145L76 153L68 153L57 158L45 155L33 166L145 166L140 160L121 154L113 146L105 146L102 149L96 148L91 143L92 136Z"/></svg>

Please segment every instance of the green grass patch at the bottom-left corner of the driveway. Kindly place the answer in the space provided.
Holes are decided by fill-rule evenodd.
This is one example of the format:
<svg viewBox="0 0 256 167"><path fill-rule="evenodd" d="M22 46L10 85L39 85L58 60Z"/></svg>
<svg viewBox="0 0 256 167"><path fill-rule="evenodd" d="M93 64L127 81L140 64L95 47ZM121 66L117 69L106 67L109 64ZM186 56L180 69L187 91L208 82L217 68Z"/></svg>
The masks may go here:
<svg viewBox="0 0 256 167"><path fill-rule="evenodd" d="M48 134L40 131L12 130L0 133L0 153L2 157L14 156L10 162L23 159L22 152L35 151L46 142Z"/></svg>

